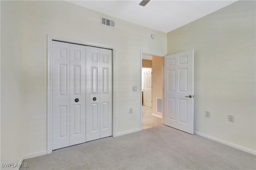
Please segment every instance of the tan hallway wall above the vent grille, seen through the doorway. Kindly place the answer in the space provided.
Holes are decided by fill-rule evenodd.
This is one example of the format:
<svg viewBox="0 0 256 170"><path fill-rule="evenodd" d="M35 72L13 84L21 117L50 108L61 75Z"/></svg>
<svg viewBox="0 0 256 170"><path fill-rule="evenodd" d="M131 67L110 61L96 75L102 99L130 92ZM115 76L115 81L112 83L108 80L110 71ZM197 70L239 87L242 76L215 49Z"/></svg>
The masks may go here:
<svg viewBox="0 0 256 170"><path fill-rule="evenodd" d="M162 98L162 62L163 57L152 58L152 113L157 113L157 100Z"/></svg>

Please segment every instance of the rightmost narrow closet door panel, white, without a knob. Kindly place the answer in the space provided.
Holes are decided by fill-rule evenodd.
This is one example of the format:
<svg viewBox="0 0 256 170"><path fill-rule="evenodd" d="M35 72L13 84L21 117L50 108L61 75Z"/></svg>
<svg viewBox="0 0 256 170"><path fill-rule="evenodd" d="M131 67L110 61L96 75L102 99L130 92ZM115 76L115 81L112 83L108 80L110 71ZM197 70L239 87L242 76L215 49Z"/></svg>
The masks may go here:
<svg viewBox="0 0 256 170"><path fill-rule="evenodd" d="M100 138L112 136L112 50L100 49Z"/></svg>

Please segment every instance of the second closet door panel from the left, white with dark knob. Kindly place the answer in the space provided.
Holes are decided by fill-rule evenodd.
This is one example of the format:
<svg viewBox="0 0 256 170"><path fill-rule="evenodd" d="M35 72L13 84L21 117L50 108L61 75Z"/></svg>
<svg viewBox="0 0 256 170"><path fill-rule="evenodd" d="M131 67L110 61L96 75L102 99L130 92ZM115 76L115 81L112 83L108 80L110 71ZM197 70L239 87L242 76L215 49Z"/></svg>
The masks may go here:
<svg viewBox="0 0 256 170"><path fill-rule="evenodd" d="M70 44L70 146L86 142L86 47Z"/></svg>

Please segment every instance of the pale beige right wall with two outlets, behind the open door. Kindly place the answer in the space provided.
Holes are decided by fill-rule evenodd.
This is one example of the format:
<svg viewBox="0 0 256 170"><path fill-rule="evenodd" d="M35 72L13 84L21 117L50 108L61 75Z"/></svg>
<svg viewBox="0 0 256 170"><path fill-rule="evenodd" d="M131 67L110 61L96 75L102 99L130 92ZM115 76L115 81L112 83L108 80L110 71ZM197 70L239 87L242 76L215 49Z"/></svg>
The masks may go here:
<svg viewBox="0 0 256 170"><path fill-rule="evenodd" d="M235 2L167 35L168 55L194 49L194 130L254 151L255 3Z"/></svg>

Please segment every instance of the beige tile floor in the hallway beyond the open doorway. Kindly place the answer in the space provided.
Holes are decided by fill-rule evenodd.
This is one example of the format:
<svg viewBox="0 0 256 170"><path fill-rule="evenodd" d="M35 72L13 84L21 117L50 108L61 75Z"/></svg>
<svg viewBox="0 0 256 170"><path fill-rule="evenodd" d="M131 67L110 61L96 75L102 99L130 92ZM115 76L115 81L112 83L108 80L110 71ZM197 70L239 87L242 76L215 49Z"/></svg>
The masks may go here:
<svg viewBox="0 0 256 170"><path fill-rule="evenodd" d="M142 105L142 130L162 125L162 119L152 116L152 108Z"/></svg>

